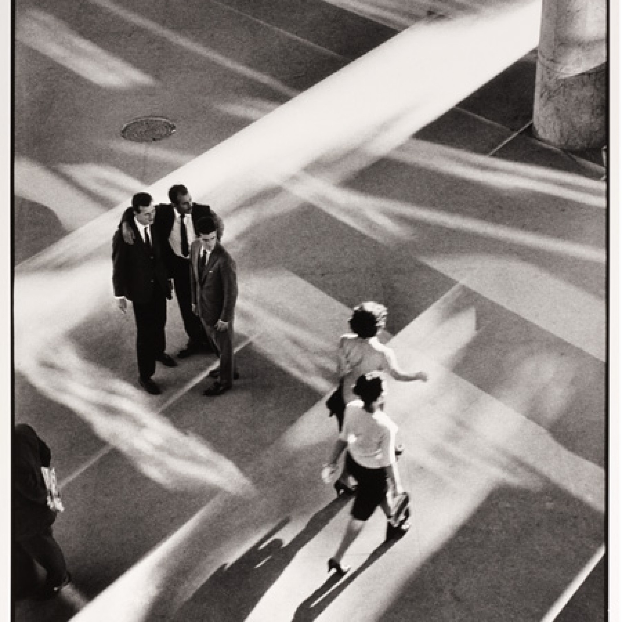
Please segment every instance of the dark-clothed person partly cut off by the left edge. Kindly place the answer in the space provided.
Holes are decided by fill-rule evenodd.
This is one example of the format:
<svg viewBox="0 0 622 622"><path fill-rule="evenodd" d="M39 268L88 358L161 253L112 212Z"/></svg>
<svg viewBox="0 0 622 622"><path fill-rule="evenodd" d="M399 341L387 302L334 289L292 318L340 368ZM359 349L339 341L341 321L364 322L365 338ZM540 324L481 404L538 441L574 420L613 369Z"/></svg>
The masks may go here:
<svg viewBox="0 0 622 622"><path fill-rule="evenodd" d="M47 578L37 598L53 598L71 580L60 546L52 536L56 513L47 504L41 467L52 453L30 425L16 425L13 439L12 519L14 545L22 557L40 564Z"/></svg>

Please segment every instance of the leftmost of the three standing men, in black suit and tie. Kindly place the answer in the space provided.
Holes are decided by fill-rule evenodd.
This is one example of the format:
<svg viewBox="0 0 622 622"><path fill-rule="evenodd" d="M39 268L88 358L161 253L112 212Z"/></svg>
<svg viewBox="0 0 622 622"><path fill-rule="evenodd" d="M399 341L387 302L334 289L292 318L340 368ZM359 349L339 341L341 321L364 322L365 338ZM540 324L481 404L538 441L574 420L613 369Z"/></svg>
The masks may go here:
<svg viewBox="0 0 622 622"><path fill-rule="evenodd" d="M132 197L134 218L128 223L134 243L128 244L120 230L113 238L113 287L119 309L125 313L132 301L136 318L136 356L139 381L152 395L160 388L151 379L156 361L167 367L177 363L165 353L164 327L166 299L171 298L170 283L162 248L153 223L156 207L151 195L139 192Z"/></svg>

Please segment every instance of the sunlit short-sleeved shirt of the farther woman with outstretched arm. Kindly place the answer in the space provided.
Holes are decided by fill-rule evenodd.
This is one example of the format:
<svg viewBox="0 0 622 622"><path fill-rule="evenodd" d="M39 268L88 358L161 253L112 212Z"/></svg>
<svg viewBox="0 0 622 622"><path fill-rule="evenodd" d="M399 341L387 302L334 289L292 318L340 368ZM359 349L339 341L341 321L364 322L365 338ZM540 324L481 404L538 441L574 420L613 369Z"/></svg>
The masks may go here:
<svg viewBox="0 0 622 622"><path fill-rule="evenodd" d="M389 372L395 355L378 338L362 339L358 335L342 335L339 340L338 374L343 378L343 401L356 399L352 387L362 374L370 371Z"/></svg>

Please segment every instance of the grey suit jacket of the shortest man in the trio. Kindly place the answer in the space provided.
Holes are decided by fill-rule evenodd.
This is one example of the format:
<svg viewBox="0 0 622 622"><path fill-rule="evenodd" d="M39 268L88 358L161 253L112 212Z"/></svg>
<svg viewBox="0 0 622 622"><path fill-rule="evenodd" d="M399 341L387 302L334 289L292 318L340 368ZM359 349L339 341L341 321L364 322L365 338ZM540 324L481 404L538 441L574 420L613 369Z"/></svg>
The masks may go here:
<svg viewBox="0 0 622 622"><path fill-rule="evenodd" d="M218 320L231 322L238 299L236 264L220 242L203 269L199 267L200 255L201 242L197 239L190 246L192 304L197 305L198 315L208 326L215 326Z"/></svg>

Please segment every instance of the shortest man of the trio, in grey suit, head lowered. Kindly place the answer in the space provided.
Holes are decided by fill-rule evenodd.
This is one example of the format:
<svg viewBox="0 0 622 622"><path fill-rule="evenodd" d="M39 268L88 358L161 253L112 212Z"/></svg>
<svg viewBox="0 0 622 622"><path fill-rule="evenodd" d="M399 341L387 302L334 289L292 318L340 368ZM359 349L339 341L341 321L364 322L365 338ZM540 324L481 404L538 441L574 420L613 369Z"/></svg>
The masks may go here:
<svg viewBox="0 0 622 622"><path fill-rule="evenodd" d="M203 322L205 332L220 357L218 380L203 395L228 391L238 377L233 361L233 318L238 298L236 264L218 241L215 221L201 218L198 239L190 248L192 310Z"/></svg>

